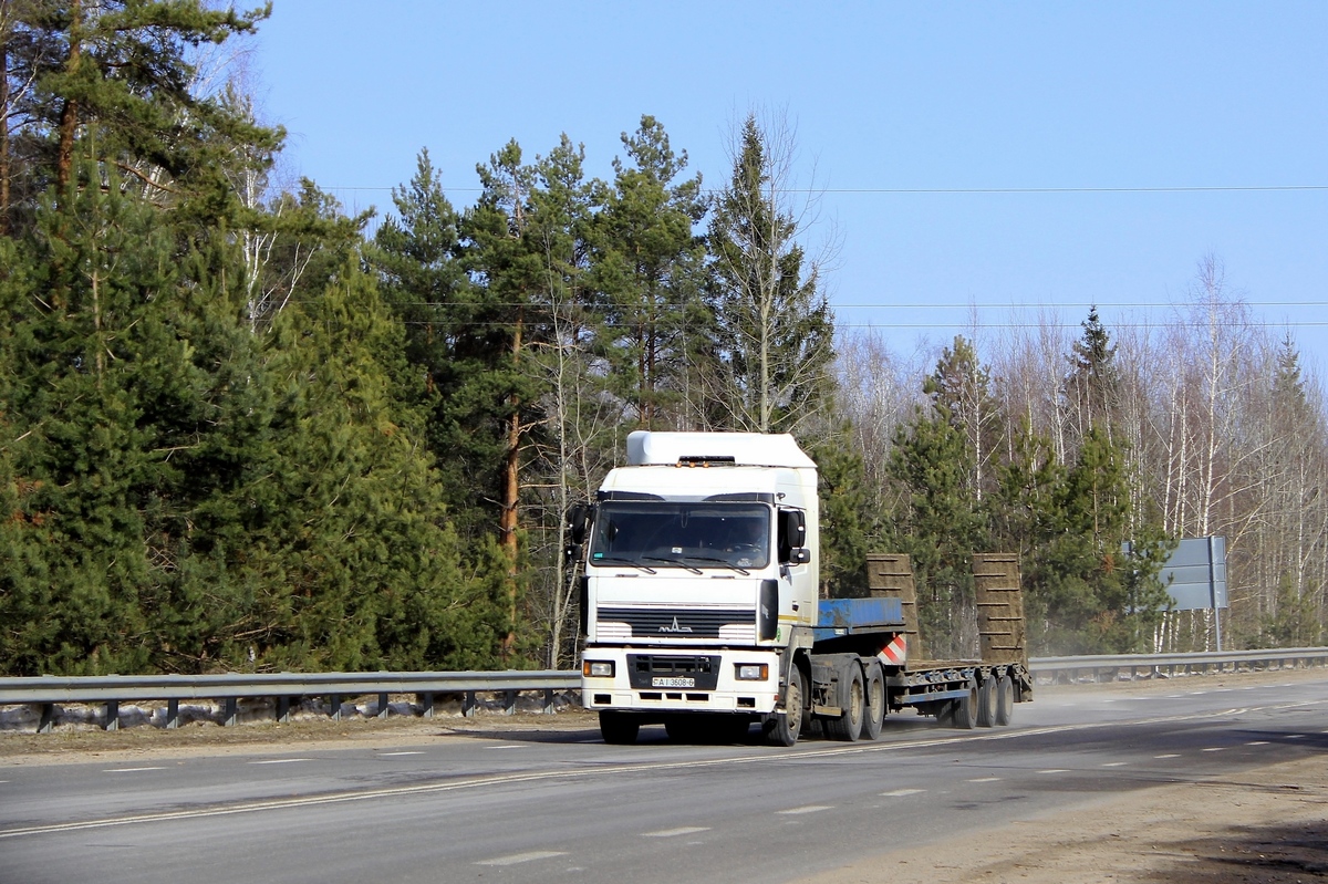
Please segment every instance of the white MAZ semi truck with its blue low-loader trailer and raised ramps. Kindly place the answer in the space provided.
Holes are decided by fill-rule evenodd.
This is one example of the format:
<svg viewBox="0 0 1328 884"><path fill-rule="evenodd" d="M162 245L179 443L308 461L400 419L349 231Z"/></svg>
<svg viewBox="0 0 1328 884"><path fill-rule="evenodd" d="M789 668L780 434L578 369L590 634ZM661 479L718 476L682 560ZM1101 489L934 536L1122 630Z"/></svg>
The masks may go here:
<svg viewBox="0 0 1328 884"><path fill-rule="evenodd" d="M888 710L973 727L1032 700L1013 556L975 556L981 660L922 658L907 556L869 556L869 599L818 599L817 467L791 435L632 433L596 498L568 522L607 742L760 722L791 746L813 719L874 739Z"/></svg>

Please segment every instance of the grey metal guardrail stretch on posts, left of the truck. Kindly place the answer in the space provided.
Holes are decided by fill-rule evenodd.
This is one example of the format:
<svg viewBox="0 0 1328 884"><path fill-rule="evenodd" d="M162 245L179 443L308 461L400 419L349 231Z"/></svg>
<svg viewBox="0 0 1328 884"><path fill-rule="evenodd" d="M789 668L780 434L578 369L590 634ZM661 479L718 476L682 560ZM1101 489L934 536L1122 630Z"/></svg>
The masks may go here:
<svg viewBox="0 0 1328 884"><path fill-rule="evenodd" d="M554 694L580 688L579 672L507 670L507 672L364 672L364 673L227 673L220 676L74 676L37 678L0 678L0 706L28 705L41 707L39 733L49 733L54 723L56 703L104 703L105 727L120 726L120 703L126 701L165 700L166 727L179 726L182 700L220 701L222 723L238 721L243 698L274 698L275 718L291 719L291 700L324 697L328 717L340 719L341 698L378 696L378 718L386 718L389 694L416 694L426 718L433 717L436 694L462 694L462 714L475 711L477 693L502 693L503 711L515 710L521 692L542 690L543 710L554 709Z"/></svg>

